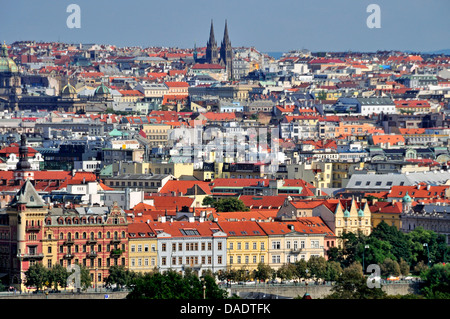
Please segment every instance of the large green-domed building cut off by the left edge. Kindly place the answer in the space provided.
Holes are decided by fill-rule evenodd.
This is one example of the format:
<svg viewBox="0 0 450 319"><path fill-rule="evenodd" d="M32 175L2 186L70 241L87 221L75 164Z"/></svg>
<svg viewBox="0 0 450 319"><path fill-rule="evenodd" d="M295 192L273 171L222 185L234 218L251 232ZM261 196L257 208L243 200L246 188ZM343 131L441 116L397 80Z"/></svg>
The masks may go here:
<svg viewBox="0 0 450 319"><path fill-rule="evenodd" d="M8 102L10 109L17 110L21 94L19 68L9 57L8 47L3 43L0 49L0 98Z"/></svg>

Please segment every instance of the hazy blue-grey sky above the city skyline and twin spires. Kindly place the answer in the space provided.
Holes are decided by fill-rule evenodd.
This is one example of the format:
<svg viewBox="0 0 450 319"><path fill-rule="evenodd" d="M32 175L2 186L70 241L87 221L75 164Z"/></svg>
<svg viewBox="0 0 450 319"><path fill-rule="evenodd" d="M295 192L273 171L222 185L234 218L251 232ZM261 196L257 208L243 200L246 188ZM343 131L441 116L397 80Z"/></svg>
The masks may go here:
<svg viewBox="0 0 450 319"><path fill-rule="evenodd" d="M69 28L70 4L81 9ZM370 4L380 28L369 28ZM263 52L450 49L450 0L1 0L0 40L116 46L218 45L225 20L233 47Z"/></svg>

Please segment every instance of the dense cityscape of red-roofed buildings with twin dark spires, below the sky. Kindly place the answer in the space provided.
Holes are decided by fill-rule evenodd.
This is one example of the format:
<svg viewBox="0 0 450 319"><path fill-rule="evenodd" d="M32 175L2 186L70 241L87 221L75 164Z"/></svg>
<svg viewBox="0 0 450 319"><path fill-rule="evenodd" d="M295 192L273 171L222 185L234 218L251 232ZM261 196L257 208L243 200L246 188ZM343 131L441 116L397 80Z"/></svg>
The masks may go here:
<svg viewBox="0 0 450 319"><path fill-rule="evenodd" d="M0 297L449 298L450 55L275 56L218 27L3 43Z"/></svg>

